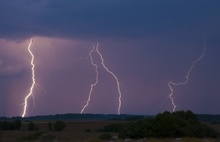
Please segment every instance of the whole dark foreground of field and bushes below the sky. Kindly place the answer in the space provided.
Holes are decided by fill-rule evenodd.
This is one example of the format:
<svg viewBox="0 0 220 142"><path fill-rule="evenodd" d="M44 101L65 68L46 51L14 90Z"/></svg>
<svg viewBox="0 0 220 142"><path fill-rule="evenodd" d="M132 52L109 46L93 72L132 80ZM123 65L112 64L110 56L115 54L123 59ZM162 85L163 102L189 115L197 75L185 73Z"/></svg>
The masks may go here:
<svg viewBox="0 0 220 142"><path fill-rule="evenodd" d="M194 138L202 141L209 139L209 142L212 142L218 141L220 138L219 119L215 117L215 120L211 121L212 117L200 115L203 120L209 120L207 123L200 121L198 115L191 111L164 112L156 116L122 115L122 117L88 114L81 116L86 118L81 121L74 120L70 114L67 115L68 117L56 116L65 119L55 120L56 117L51 116L49 120L48 117L47 120L35 120L36 117L32 117L32 119L0 119L0 142L101 142L108 140L117 142L125 139L142 139L142 141L151 142L150 139L171 139L170 141L173 141L176 138L190 138L187 141L194 141L192 140ZM89 116L91 120L88 121ZM79 117L77 115L77 119Z"/></svg>

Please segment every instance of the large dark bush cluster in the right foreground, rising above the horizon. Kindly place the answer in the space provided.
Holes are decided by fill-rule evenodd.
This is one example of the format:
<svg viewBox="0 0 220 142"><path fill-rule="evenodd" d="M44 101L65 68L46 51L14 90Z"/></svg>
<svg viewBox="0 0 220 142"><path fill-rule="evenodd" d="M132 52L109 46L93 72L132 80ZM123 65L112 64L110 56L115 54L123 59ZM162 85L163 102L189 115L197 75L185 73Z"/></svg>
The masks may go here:
<svg viewBox="0 0 220 142"><path fill-rule="evenodd" d="M127 124L104 127L106 132L117 132L119 138L216 138L220 134L207 124L201 123L191 111L164 112Z"/></svg>

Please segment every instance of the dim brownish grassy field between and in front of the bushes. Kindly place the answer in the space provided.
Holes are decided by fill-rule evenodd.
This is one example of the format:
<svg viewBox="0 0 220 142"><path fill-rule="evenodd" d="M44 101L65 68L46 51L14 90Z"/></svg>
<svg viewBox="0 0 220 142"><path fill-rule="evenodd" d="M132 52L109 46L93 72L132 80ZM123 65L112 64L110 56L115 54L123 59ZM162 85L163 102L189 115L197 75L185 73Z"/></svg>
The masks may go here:
<svg viewBox="0 0 220 142"><path fill-rule="evenodd" d="M48 122L34 122L39 128L38 131L28 131L27 122L23 122L19 131L1 131L0 142L104 142L99 139L105 125L120 123L116 121L82 121L65 122L66 128L61 132L49 131ZM211 124L211 127L220 132L220 124ZM116 138L117 134L111 133ZM118 140L111 139L111 142L220 142L220 139L139 139L139 140Z"/></svg>

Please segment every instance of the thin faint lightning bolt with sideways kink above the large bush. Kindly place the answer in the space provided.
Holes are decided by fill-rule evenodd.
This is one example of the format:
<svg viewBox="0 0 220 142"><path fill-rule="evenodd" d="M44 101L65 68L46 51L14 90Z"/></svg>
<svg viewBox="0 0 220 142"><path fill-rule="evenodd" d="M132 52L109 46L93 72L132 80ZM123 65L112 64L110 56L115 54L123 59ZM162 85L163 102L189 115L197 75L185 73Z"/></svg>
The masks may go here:
<svg viewBox="0 0 220 142"><path fill-rule="evenodd" d="M214 30L215 30L215 28L214 28ZM174 99L173 99L173 93L174 93L174 89L173 89L173 87L172 86L179 86L179 85L186 85L187 83L188 83L188 81L189 81L189 77L190 77L190 74L191 74L191 72L193 71L193 68L195 67L195 65L200 61L200 60L202 60L202 58L205 56L205 53L206 53L206 39L214 32L214 30L213 31L211 31L210 33L208 33L206 36L204 36L203 37L203 44L204 44L204 47L203 47L203 52L202 52L202 54L195 60L195 61L193 61L192 62L192 65L190 66L190 68L189 68L189 70L188 70L188 72L187 72L187 74L186 74L186 79L185 79L185 81L183 81L183 82L178 82L178 83L175 83L175 82L169 82L168 83L168 86L169 86L169 89L170 89L170 95L169 95L169 98L170 98L170 100L171 100L171 103L172 103L172 105L173 105L173 112L174 111L176 111L176 104L175 104L175 101L174 101Z"/></svg>

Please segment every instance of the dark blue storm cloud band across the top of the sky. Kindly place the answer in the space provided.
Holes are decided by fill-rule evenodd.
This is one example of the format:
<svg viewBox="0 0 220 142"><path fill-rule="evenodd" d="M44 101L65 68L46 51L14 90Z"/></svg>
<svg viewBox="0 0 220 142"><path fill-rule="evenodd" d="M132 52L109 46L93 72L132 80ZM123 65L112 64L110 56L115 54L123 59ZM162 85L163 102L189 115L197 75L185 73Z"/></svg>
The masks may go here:
<svg viewBox="0 0 220 142"><path fill-rule="evenodd" d="M199 30L219 21L219 5L218 0L0 0L0 37L146 37Z"/></svg>

